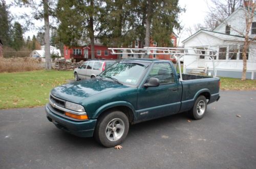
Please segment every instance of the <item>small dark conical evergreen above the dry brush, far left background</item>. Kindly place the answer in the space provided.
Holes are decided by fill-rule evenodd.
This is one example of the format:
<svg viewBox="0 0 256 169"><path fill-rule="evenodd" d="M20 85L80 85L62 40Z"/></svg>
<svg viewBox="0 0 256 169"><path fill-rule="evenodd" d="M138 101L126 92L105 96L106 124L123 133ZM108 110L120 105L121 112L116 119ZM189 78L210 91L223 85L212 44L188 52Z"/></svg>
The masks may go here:
<svg viewBox="0 0 256 169"><path fill-rule="evenodd" d="M23 39L23 29L22 25L18 22L15 22L13 25L13 42L12 47L15 50L19 50L24 46L24 39Z"/></svg>

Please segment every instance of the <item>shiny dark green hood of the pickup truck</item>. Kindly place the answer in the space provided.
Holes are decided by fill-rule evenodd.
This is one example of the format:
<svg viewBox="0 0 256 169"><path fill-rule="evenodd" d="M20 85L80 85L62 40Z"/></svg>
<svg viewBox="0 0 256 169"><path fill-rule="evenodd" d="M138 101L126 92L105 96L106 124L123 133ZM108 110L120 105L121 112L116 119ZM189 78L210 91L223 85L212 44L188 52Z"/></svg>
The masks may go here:
<svg viewBox="0 0 256 169"><path fill-rule="evenodd" d="M129 87L120 85L114 81L94 78L90 80L75 81L56 87L51 91L51 94L63 100L80 103L82 99L92 95L121 88Z"/></svg>

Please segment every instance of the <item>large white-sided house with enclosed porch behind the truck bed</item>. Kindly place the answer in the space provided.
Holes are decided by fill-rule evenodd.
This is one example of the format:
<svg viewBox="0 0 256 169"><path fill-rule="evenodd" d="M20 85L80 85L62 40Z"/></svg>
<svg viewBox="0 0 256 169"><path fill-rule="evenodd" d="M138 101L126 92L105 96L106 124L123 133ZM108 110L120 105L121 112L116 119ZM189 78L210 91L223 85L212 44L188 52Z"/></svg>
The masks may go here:
<svg viewBox="0 0 256 169"><path fill-rule="evenodd" d="M250 29L250 38L256 37L256 12ZM245 32L245 11L239 7L214 31L200 30L185 39L185 48L216 50L215 67L217 76L242 77L242 48ZM204 71L213 74L212 61L204 56L184 58L184 73ZM251 42L247 52L247 79L256 79L256 41Z"/></svg>

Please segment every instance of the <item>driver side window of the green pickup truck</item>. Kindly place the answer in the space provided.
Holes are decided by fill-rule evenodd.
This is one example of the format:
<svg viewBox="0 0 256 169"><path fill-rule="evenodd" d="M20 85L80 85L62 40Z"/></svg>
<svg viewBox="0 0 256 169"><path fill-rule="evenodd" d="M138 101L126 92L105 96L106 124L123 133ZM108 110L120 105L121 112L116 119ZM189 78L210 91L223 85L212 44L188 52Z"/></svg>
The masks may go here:
<svg viewBox="0 0 256 169"><path fill-rule="evenodd" d="M169 63L155 63L148 75L148 79L151 77L158 78L160 85L175 83L174 73Z"/></svg>

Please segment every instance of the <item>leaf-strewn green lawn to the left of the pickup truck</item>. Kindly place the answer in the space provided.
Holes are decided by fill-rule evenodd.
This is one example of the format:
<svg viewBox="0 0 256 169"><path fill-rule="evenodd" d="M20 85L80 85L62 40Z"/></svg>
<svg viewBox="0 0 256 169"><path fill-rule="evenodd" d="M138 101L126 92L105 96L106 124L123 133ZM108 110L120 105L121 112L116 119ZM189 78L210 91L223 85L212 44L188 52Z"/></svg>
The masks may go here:
<svg viewBox="0 0 256 169"><path fill-rule="evenodd" d="M0 73L0 109L45 105L51 89L72 78L72 71Z"/></svg>

